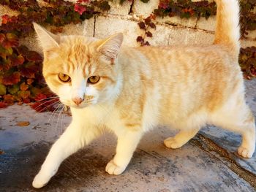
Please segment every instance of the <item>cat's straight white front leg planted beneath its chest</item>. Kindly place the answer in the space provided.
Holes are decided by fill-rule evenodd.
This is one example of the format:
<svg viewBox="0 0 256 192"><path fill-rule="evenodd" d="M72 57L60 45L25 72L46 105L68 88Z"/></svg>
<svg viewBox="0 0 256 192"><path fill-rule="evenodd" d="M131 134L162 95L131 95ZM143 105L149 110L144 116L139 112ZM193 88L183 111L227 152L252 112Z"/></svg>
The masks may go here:
<svg viewBox="0 0 256 192"><path fill-rule="evenodd" d="M107 164L106 172L109 174L121 174L124 172L142 136L143 131L130 130L129 128L118 133L116 155Z"/></svg>

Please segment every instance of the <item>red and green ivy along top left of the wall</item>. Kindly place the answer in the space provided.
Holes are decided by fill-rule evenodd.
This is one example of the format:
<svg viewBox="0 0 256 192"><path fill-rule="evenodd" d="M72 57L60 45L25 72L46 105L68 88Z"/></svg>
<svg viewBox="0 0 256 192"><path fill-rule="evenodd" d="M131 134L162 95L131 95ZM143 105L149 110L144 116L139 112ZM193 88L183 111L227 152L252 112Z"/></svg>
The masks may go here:
<svg viewBox="0 0 256 192"><path fill-rule="evenodd" d="M26 37L34 31L32 22L49 24L50 26L64 26L69 23L81 23L92 18L95 9L108 10L108 1L94 1L93 4L83 5L84 11L80 14L74 9L74 4L64 0L43 0L49 7L39 7L37 0L1 0L0 4L20 12L17 17L4 15L0 27L2 33L14 33L18 37Z"/></svg>

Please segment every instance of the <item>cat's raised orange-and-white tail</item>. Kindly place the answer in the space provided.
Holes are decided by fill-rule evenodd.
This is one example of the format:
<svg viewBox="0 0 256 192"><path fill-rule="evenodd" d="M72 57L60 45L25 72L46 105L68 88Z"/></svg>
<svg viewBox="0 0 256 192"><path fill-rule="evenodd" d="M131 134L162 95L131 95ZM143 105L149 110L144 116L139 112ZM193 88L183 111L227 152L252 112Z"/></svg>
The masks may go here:
<svg viewBox="0 0 256 192"><path fill-rule="evenodd" d="M215 0L217 26L214 44L227 45L236 55L240 50L240 26L238 0Z"/></svg>

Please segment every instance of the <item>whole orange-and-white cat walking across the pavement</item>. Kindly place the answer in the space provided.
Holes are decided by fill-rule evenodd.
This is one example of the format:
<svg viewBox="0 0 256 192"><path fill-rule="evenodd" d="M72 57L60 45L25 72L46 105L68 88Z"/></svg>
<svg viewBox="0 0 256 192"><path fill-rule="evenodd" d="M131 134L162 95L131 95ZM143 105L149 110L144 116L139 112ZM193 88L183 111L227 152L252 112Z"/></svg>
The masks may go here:
<svg viewBox="0 0 256 192"><path fill-rule="evenodd" d="M181 147L210 123L241 134L238 154L252 157L255 118L238 66L238 0L216 1L215 40L206 46L121 47L122 34L101 40L56 36L34 23L45 80L72 112L72 123L51 147L34 188L46 185L61 162L99 137L102 127L118 137L109 174L124 172L140 138L159 124L180 130L165 139L166 147Z"/></svg>

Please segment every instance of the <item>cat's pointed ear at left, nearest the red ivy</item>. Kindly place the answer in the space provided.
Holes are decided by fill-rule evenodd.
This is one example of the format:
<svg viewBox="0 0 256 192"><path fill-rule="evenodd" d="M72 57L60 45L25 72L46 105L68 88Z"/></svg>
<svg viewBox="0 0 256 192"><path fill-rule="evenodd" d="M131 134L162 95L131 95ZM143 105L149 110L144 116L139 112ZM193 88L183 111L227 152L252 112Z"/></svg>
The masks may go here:
<svg viewBox="0 0 256 192"><path fill-rule="evenodd" d="M53 48L59 47L60 37L50 33L42 26L37 23L33 23L34 30L37 32L37 37L39 39L39 44L42 46L44 53L50 52Z"/></svg>

